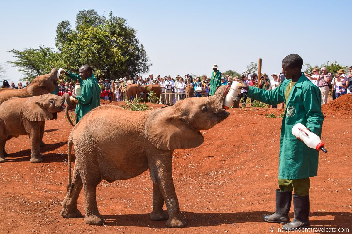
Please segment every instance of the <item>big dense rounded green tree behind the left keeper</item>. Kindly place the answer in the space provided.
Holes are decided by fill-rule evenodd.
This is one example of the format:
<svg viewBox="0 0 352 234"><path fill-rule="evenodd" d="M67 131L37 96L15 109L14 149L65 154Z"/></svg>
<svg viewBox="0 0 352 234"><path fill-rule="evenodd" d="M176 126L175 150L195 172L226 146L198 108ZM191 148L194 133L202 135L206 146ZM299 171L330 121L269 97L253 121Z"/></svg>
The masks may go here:
<svg viewBox="0 0 352 234"><path fill-rule="evenodd" d="M83 64L92 66L96 76L118 78L149 72L150 60L136 38L136 30L126 20L83 10L76 15L76 27L62 21L56 29L55 43L65 68L73 72Z"/></svg>

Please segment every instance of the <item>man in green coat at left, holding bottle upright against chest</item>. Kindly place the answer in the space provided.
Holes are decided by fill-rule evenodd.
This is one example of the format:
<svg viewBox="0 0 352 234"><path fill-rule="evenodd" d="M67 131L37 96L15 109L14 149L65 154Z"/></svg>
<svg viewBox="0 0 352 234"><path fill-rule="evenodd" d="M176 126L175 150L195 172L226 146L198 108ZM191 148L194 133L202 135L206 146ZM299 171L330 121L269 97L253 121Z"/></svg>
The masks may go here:
<svg viewBox="0 0 352 234"><path fill-rule="evenodd" d="M61 73L65 73L75 82L78 79L81 84L81 95L76 96L74 93L72 94L77 99L75 110L77 124L85 114L95 107L100 106L100 87L92 74L92 67L87 64L80 67L79 75L69 71L61 71Z"/></svg>

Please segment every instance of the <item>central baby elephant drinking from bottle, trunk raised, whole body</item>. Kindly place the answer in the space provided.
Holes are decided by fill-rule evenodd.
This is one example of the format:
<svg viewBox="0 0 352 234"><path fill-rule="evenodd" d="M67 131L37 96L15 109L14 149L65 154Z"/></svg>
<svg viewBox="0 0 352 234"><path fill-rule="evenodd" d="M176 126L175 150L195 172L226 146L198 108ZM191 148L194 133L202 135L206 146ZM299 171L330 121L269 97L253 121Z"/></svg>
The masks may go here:
<svg viewBox="0 0 352 234"><path fill-rule="evenodd" d="M149 168L153 182L150 218L168 219L168 227L184 227L172 180L172 153L174 149L200 146L200 130L212 128L230 115L222 109L225 88L221 86L210 97L188 98L173 106L139 111L138 118L133 118L135 111L113 105L96 107L86 114L68 138L69 184L61 215L81 217L77 199L83 187L84 222L102 225L104 219L96 205L99 182L130 179ZM71 182L72 146L76 161ZM162 209L164 201L168 213Z"/></svg>

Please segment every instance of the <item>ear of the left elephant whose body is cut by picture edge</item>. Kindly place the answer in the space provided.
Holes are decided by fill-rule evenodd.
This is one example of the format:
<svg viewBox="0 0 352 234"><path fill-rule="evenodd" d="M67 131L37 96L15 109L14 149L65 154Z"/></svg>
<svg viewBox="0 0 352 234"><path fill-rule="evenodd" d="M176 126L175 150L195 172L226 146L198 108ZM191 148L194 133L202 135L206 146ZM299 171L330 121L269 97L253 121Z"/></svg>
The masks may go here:
<svg viewBox="0 0 352 234"><path fill-rule="evenodd" d="M54 115L43 107L40 101L41 97L42 96L33 96L24 103L22 113L29 121L45 121L54 118Z"/></svg>

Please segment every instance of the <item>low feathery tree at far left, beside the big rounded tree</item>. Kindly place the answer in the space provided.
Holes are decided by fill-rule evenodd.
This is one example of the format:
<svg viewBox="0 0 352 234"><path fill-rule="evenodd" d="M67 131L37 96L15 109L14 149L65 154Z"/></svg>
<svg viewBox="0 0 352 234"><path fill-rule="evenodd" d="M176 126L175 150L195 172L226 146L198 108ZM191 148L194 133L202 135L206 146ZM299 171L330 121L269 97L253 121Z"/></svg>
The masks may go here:
<svg viewBox="0 0 352 234"><path fill-rule="evenodd" d="M59 54L51 47L39 46L38 49L29 48L22 51L11 49L8 52L17 59L7 62L18 67L18 71L23 73L21 81L31 81L38 75L50 73L53 67L60 67Z"/></svg>

